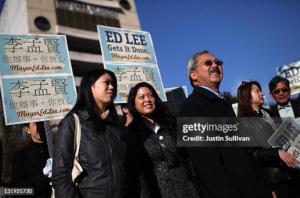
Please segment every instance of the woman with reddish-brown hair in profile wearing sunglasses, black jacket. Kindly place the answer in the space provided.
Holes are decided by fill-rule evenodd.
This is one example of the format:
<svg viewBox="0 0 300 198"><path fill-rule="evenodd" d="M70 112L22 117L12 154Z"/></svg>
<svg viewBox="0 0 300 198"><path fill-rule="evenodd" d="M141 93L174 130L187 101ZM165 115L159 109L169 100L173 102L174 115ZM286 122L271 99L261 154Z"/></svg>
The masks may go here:
<svg viewBox="0 0 300 198"><path fill-rule="evenodd" d="M268 114L268 110L262 107L264 103L261 86L256 81L242 82L238 88L238 117L261 117L261 120L249 120L248 124L257 137L268 136L267 131L275 131L276 125ZM293 184L290 174L286 171L289 168L296 168L299 163L295 157L279 148L253 147L252 151L256 160L263 168L263 172L270 183L277 198L292 198ZM285 166L285 165L287 166Z"/></svg>

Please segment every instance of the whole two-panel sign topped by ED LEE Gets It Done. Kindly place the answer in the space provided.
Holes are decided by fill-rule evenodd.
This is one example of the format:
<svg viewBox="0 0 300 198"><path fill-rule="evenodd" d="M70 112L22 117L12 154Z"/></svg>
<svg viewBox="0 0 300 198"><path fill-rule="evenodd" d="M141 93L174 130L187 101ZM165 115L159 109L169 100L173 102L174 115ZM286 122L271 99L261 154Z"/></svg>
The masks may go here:
<svg viewBox="0 0 300 198"><path fill-rule="evenodd" d="M167 101L149 32L97 25L104 68L116 74L115 103L125 103L129 90L148 82Z"/></svg>

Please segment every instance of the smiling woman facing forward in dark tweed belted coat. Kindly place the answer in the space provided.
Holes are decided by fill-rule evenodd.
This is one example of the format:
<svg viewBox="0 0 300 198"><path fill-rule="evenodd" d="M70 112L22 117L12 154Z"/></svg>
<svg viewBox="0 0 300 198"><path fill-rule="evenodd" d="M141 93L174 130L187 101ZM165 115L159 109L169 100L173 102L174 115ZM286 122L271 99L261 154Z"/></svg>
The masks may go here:
<svg viewBox="0 0 300 198"><path fill-rule="evenodd" d="M176 146L175 120L154 88L141 82L131 88L128 125L137 144L142 172L153 198L198 198L186 174L186 155Z"/></svg>

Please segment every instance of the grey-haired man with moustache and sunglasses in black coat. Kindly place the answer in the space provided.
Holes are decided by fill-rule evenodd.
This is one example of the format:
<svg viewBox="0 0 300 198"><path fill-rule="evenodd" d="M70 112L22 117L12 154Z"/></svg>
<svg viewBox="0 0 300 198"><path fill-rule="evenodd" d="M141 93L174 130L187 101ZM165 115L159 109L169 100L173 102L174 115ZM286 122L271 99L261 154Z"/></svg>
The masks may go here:
<svg viewBox="0 0 300 198"><path fill-rule="evenodd" d="M183 102L180 117L235 117L219 92L223 62L207 50L187 64L193 93ZM272 198L269 185L248 148L186 147L203 198Z"/></svg>

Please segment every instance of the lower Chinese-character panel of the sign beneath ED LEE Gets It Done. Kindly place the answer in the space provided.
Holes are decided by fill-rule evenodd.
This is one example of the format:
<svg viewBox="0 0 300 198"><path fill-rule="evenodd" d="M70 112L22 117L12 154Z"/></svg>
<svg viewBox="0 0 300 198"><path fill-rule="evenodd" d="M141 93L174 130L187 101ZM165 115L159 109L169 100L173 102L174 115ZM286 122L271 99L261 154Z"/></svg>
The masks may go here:
<svg viewBox="0 0 300 198"><path fill-rule="evenodd" d="M139 82L148 82L154 87L160 99L167 100L158 67L106 64L106 69L112 71L117 77L116 101L126 102L129 90Z"/></svg>

